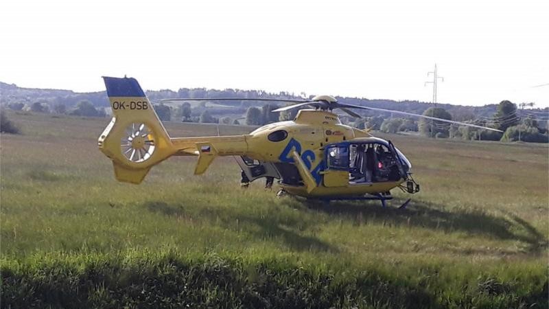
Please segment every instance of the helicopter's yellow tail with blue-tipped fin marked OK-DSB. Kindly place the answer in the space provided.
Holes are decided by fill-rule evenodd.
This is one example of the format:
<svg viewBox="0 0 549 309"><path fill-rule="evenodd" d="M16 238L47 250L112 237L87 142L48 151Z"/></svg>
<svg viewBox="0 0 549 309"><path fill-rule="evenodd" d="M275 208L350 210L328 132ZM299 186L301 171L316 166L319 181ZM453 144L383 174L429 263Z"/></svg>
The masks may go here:
<svg viewBox="0 0 549 309"><path fill-rule="evenodd" d="M135 78L104 77L113 119L100 150L113 161L118 181L141 183L153 165L172 155L198 155L195 174L218 156L246 155L248 135L170 138Z"/></svg>

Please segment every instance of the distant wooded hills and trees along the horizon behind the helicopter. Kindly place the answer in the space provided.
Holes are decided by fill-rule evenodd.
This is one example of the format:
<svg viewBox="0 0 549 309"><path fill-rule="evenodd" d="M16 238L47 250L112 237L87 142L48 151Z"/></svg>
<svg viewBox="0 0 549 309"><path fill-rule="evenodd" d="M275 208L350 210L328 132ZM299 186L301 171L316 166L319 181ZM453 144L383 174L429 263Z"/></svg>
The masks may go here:
<svg viewBox="0 0 549 309"><path fill-rule="evenodd" d="M25 89L0 82L0 105L16 111L33 111L37 113L57 113L77 115L82 117L105 117L110 113L108 98L104 91L95 93L74 93L73 91L56 89ZM160 91L147 91L148 97L154 102L170 98L277 98L296 99L305 95L293 93L268 93L266 91L240 90L240 89L205 89L205 88L181 88L178 91L164 89ZM76 102L74 100L81 99ZM357 128L381 130L386 133L419 132L421 135L434 138L454 138L473 140L500 140L500 141L547 141L547 119L549 113L546 109L530 109L529 114L523 115L516 104L502 101L500 104L486 106L456 106L450 104L437 104L417 101L395 102L392 100L367 100L360 98L338 97L341 102L371 107L394 109L419 113L443 119L452 119L458 122L469 122L480 126L498 128L504 133L491 130L482 130L468 126L457 126L445 122L430 121L428 119L408 119L392 117L390 113L377 111L360 111L362 119L353 119L349 116L341 116L343 123ZM154 104L156 113L163 121L174 122L200 122L220 124L247 124L260 126L277 121L294 119L297 111L283 111L272 113L279 108L277 104L266 104L261 101L224 101L224 106L207 106L207 102L200 102L198 106L192 106L189 102L183 104ZM106 108L105 108L106 107ZM537 114L535 114L537 113ZM244 117L242 117L244 115ZM541 115L541 116L539 116Z"/></svg>

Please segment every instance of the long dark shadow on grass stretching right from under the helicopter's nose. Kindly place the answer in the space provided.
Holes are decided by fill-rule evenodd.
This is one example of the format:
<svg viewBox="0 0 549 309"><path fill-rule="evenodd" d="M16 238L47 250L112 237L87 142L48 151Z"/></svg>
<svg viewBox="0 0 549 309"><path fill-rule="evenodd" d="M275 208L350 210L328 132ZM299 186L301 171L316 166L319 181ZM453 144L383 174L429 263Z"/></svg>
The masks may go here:
<svg viewBox="0 0 549 309"><path fill-rule="evenodd" d="M364 205L367 203L368 205ZM309 209L353 220L382 222L384 225L409 225L436 229L447 233L465 231L501 240L517 240L526 244L526 253L540 254L548 247L547 238L535 227L514 215L493 216L480 209L446 210L441 205L412 201L406 209L380 207L378 203L337 201L309 203ZM393 204L398 204L393 202Z"/></svg>

